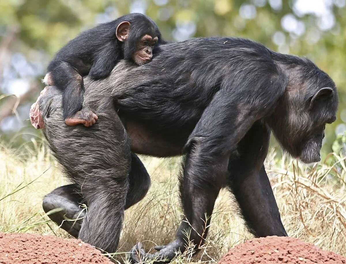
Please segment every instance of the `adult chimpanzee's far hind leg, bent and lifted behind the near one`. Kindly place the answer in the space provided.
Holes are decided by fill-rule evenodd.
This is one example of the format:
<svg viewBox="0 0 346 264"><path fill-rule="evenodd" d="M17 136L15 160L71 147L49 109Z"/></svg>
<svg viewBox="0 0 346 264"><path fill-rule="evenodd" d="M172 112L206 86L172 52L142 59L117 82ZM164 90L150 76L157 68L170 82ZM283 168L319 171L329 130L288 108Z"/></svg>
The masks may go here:
<svg viewBox="0 0 346 264"><path fill-rule="evenodd" d="M142 200L150 187L148 172L135 153L131 153L129 183L125 209ZM81 194L81 188L74 183L58 187L50 192L45 196L42 206L46 213L61 208L61 211L50 214L48 217L72 236L78 237L86 213L86 210L80 206L82 203L86 202Z"/></svg>

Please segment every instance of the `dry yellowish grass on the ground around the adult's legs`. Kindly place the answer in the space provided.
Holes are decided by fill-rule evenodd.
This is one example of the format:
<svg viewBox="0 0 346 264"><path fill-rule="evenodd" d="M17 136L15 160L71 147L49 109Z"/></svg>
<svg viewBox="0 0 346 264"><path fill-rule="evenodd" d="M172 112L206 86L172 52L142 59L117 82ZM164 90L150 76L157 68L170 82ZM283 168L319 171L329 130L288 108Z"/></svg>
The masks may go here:
<svg viewBox="0 0 346 264"><path fill-rule="evenodd" d="M41 207L45 194L66 183L58 165L45 149L22 153L0 146L0 232L68 237L48 221ZM152 177L152 187L143 201L126 211L118 259L137 241L145 241L147 249L154 242L170 242L181 220L177 192L180 159L142 160ZM286 157L274 160L275 153L270 153L266 169L288 234L346 256L344 159L334 155L333 164L310 168ZM174 263L216 263L230 247L251 238L236 212L233 197L222 190L207 244L194 258L187 251Z"/></svg>

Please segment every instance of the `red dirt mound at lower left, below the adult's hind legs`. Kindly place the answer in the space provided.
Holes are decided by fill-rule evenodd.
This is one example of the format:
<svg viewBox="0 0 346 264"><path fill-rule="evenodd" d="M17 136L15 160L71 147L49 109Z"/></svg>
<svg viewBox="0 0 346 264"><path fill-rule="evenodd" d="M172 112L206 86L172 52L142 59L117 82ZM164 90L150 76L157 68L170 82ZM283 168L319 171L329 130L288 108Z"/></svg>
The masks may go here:
<svg viewBox="0 0 346 264"><path fill-rule="evenodd" d="M31 234L0 234L1 264L111 263L89 244L77 239Z"/></svg>

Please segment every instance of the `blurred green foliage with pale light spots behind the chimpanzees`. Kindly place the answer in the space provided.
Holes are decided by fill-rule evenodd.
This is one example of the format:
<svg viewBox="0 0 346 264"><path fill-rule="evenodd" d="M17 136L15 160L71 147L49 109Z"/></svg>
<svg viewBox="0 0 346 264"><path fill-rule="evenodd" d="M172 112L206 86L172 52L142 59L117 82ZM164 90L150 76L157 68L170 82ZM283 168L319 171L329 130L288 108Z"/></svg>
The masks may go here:
<svg viewBox="0 0 346 264"><path fill-rule="evenodd" d="M346 114L343 113L346 111L345 0L304 2L308 5L323 2L329 18L334 19L333 26L326 29L324 25L328 21L324 21L318 12L302 14L295 7L297 2L292 0L0 0L0 45L10 32L18 32L6 51L7 59L0 61L0 96L12 92L9 87L13 88L10 85L13 79L37 87L18 107L17 115L2 119L1 139L19 146L39 133L26 120L28 109L44 87L39 83L40 78L58 49L81 30L139 11L153 18L164 38L170 41L237 36L259 41L273 50L309 57L334 79L338 87L338 120L326 131L324 152L329 152L336 132L343 132L346 128L343 124L346 118L343 121L340 117L340 113L341 116ZM292 17L295 19L293 25L298 25L296 30L284 26L284 19L291 18L292 22ZM276 37L279 37L279 44ZM23 74L23 68L31 70L24 70ZM6 103L7 98L0 100L0 106Z"/></svg>

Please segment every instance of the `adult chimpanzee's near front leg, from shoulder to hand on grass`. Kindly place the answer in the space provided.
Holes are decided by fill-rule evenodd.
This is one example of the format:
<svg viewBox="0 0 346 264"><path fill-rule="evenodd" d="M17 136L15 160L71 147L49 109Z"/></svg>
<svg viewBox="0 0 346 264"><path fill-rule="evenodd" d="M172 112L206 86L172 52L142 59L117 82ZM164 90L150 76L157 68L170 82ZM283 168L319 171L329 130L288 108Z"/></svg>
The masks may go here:
<svg viewBox="0 0 346 264"><path fill-rule="evenodd" d="M254 102L261 102L259 98ZM175 241L163 247L160 252L147 254L145 257L171 261L176 251L185 250L186 237L183 231L188 229L191 230L189 239L193 240L196 248L203 244L215 200L220 188L227 184L230 154L236 151L238 142L254 122L266 114L265 104L248 105L243 100L240 96L231 100L229 91L220 90L204 110L185 148L188 154L180 185L185 218ZM133 252L135 250L139 250L138 246ZM140 252L143 253L142 250ZM131 258L138 262L136 254L132 254Z"/></svg>

